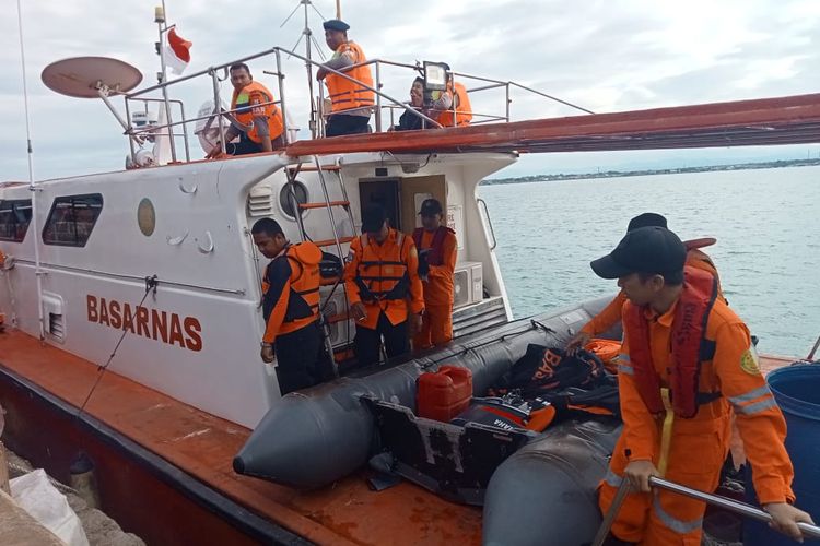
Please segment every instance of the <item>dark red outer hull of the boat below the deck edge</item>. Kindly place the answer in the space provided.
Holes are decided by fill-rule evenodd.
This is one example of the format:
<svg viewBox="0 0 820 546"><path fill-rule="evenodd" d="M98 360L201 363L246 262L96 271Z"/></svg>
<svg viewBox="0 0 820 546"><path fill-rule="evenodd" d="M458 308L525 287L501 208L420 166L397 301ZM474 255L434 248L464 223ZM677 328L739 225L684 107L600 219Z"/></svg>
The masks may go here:
<svg viewBox="0 0 820 546"><path fill-rule="evenodd" d="M147 544L311 544L3 367L0 400L9 449L63 483L86 453L106 513Z"/></svg>

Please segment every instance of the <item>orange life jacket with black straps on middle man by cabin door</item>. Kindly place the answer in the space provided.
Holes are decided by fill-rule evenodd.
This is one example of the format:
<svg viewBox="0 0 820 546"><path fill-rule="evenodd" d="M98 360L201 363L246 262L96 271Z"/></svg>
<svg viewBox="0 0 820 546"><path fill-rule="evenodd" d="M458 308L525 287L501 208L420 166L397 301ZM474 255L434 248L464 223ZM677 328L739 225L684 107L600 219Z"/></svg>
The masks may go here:
<svg viewBox="0 0 820 546"><path fill-rule="evenodd" d="M379 259L373 246L367 244L367 235L361 236L362 259L356 268L355 283L359 295L365 304L382 300L405 299L410 288L410 274L405 256L405 234L398 233L393 256Z"/></svg>

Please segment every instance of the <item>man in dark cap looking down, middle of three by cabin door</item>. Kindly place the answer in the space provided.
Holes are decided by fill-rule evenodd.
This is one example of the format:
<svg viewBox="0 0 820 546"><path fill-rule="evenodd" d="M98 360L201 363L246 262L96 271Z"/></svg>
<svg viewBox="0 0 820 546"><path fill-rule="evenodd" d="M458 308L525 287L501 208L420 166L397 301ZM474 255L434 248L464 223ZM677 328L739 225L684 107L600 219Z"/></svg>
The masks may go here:
<svg viewBox="0 0 820 546"><path fill-rule="evenodd" d="M424 297L413 239L390 228L385 210L368 205L362 236L350 244L344 283L356 321L353 352L362 365L379 360L379 339L387 356L410 351L410 335L421 328Z"/></svg>

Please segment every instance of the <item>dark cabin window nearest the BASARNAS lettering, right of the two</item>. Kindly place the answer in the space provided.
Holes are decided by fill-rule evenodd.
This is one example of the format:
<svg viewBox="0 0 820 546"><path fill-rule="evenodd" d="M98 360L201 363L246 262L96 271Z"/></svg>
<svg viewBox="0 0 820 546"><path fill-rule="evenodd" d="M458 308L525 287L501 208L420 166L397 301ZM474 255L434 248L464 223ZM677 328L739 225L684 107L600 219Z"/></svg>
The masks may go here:
<svg viewBox="0 0 820 546"><path fill-rule="evenodd" d="M63 247L84 247L103 210L103 195L57 198L43 228L43 242Z"/></svg>

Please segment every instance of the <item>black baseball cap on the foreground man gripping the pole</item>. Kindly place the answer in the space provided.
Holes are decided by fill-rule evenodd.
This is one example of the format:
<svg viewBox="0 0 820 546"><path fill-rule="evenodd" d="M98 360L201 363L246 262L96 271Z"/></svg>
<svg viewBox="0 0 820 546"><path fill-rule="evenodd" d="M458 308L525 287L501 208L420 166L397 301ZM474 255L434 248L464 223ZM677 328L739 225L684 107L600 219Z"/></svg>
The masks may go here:
<svg viewBox="0 0 820 546"><path fill-rule="evenodd" d="M589 265L600 277L619 278L631 273L675 273L686 261L687 248L677 235L660 226L647 226L628 232L614 250Z"/></svg>

